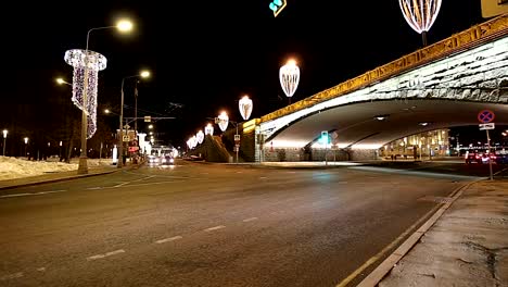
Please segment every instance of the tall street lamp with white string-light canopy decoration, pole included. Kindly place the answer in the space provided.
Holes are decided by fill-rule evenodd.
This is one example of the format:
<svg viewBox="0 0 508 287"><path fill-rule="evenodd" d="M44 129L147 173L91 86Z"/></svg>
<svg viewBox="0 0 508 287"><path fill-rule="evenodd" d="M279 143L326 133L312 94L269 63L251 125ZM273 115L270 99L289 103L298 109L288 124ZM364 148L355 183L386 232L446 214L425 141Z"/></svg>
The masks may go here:
<svg viewBox="0 0 508 287"><path fill-rule="evenodd" d="M129 32L132 29L132 23L127 20L120 20L115 26L91 28L87 33L85 50L76 49L65 53L65 61L74 66L73 101L81 109L81 154L79 155L78 174L88 173L87 138L93 136L97 129L97 74L106 66L106 59L102 54L88 50L90 33L92 30L109 28ZM91 84L90 87L89 84Z"/></svg>

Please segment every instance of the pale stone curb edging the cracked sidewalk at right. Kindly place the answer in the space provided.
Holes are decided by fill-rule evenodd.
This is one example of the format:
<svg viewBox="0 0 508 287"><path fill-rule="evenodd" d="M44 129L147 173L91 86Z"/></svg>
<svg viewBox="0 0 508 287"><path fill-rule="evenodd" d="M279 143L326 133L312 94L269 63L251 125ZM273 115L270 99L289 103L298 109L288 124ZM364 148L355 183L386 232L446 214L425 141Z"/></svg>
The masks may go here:
<svg viewBox="0 0 508 287"><path fill-rule="evenodd" d="M485 179L478 179L470 182L454 191L449 195L452 200L442 205L435 213L427 220L415 233L412 233L395 251L393 251L381 264L379 264L367 277L365 277L357 287L370 287L377 286L386 274L392 271L395 264L398 263L408 252L415 247L420 238L437 222L437 220L443 215L443 213L454 204L454 202L462 195L462 191L469 188L471 185L482 182Z"/></svg>

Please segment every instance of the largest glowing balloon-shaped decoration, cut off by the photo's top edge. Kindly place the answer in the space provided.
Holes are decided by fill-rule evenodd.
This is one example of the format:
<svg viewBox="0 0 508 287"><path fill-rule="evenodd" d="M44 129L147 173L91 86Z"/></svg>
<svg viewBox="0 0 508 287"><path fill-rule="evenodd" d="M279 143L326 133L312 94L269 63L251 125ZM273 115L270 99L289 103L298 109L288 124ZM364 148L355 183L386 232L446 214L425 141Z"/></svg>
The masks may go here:
<svg viewBox="0 0 508 287"><path fill-rule="evenodd" d="M442 0L398 0L407 24L421 34L423 46L427 46L427 32L434 24L441 9Z"/></svg>

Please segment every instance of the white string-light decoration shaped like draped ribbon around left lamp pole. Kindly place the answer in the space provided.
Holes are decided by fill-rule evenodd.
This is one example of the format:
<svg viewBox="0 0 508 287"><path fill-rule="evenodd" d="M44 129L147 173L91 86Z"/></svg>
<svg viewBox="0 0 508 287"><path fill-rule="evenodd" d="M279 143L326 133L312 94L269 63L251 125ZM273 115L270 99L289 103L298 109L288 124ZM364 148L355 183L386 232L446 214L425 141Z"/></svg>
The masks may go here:
<svg viewBox="0 0 508 287"><path fill-rule="evenodd" d="M73 102L79 109L84 110L82 91L85 84L85 64L88 63L88 91L87 91L87 138L91 138L97 130L97 87L98 74L106 67L104 55L88 50L86 60L85 50L74 49L65 52L64 60L74 67L73 72Z"/></svg>

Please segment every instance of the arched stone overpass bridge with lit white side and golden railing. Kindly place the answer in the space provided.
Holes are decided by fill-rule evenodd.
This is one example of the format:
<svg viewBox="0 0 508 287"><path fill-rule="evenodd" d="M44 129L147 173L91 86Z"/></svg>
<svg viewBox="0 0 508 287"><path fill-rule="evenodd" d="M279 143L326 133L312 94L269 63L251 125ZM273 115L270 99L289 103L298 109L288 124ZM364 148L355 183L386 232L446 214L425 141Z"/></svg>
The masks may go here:
<svg viewBox="0 0 508 287"><path fill-rule="evenodd" d="M373 159L395 139L479 124L484 109L508 125L507 14L244 123L240 151L245 161L323 160L328 130L351 160Z"/></svg>

